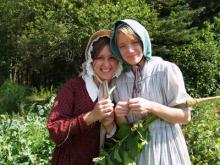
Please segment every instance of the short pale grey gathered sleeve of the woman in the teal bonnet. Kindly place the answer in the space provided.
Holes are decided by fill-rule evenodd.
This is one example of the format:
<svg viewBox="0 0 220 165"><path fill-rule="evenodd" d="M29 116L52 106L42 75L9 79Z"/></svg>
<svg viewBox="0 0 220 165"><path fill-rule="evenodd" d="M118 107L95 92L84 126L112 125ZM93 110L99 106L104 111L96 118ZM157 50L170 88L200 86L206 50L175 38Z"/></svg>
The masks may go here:
<svg viewBox="0 0 220 165"><path fill-rule="evenodd" d="M182 72L176 64L169 63L167 65L166 76L163 82L168 106L173 107L191 99L190 95L186 92ZM189 109L191 108L185 108L185 110Z"/></svg>

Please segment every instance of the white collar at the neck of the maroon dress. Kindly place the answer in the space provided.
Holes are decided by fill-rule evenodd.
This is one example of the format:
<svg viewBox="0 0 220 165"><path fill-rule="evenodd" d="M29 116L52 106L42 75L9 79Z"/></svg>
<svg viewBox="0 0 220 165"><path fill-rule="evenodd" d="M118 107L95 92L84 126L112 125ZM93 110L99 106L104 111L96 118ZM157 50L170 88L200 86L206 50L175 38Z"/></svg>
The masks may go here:
<svg viewBox="0 0 220 165"><path fill-rule="evenodd" d="M95 84L93 77L88 74L85 74L85 75L82 75L82 78L85 81L86 90L90 98L92 99L93 102L95 102L95 100L98 98L99 89L97 85Z"/></svg>

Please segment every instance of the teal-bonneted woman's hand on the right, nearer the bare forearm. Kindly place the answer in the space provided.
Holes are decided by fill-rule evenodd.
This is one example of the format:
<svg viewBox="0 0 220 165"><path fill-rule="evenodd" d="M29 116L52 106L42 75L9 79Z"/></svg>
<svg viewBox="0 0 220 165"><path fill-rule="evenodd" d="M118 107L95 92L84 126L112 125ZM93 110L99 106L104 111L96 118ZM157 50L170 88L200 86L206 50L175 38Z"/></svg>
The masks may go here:
<svg viewBox="0 0 220 165"><path fill-rule="evenodd" d="M128 100L128 107L133 114L143 115L152 111L153 102L137 97Z"/></svg>

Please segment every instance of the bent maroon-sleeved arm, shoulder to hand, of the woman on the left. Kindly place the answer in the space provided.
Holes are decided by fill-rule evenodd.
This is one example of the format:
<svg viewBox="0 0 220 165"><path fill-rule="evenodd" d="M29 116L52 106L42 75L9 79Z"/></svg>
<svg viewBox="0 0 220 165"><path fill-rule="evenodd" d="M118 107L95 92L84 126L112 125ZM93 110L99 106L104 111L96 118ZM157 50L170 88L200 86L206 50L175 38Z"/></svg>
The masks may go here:
<svg viewBox="0 0 220 165"><path fill-rule="evenodd" d="M76 136L93 128L95 126L95 121L108 116L109 107L103 108L103 106L109 104L113 107L108 101L101 101L93 107L92 111L86 114L73 116L73 111L77 111L77 107L74 105L76 88L73 89L73 86L77 85L71 81L64 85L54 102L51 114L48 118L47 128L50 138L57 145L63 143L69 136Z"/></svg>

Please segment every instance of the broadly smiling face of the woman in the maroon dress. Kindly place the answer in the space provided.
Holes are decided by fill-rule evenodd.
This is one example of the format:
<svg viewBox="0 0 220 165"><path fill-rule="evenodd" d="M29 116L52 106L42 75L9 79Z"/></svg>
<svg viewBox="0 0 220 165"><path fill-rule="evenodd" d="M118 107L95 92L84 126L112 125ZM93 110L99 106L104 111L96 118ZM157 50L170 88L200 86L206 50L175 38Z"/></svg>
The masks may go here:
<svg viewBox="0 0 220 165"><path fill-rule="evenodd" d="M106 44L96 54L92 63L95 74L103 81L110 81L118 66L118 60L113 56L109 44Z"/></svg>

